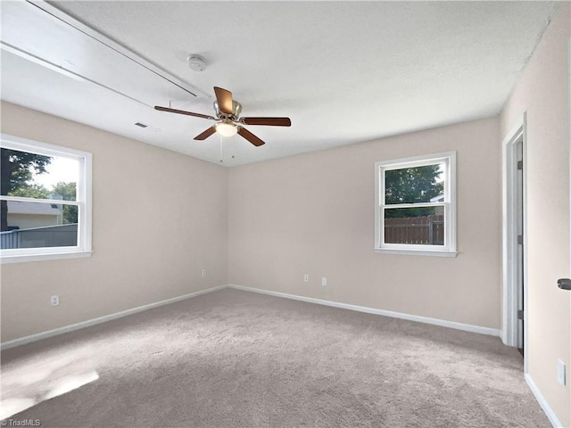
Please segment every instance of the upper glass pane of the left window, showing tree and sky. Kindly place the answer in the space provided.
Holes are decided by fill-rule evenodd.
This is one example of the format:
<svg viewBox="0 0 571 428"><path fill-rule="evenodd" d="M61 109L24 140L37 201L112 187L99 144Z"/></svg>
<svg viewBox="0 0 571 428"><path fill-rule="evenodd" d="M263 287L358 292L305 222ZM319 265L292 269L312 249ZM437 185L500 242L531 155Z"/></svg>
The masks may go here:
<svg viewBox="0 0 571 428"><path fill-rule="evenodd" d="M79 161L5 148L1 152L1 194L76 201Z"/></svg>

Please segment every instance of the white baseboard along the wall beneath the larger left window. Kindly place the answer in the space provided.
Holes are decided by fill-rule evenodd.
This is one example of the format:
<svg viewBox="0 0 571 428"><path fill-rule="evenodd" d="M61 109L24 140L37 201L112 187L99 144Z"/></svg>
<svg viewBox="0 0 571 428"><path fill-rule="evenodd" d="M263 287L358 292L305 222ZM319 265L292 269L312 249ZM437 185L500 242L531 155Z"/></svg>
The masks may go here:
<svg viewBox="0 0 571 428"><path fill-rule="evenodd" d="M14 348L16 346L25 345L26 343L37 342L41 341L42 339L47 339L48 337L57 336L58 334L69 333L75 330L79 330L80 328L89 327L91 325L101 324L106 321L111 321L112 319L117 319L121 317L127 317L128 315L136 314L137 312L142 312L147 309L157 308L159 306L168 305L170 303L175 303L179 300L186 300L192 297L199 296L201 294L205 294L207 292L215 292L217 290L221 290L226 288L228 285L219 285L217 287L207 288L206 290L201 290L198 292L190 292L183 296L173 297L172 299L156 301L154 303L150 303L148 305L139 306L133 309L122 310L120 312L116 312L114 314L105 315L103 317L88 319L87 321L81 321L80 323L65 325L63 327L54 328L54 330L48 330L42 333L30 334L29 336L24 336L18 339L14 339L12 341L3 342L0 344L0 350L8 350L10 348Z"/></svg>

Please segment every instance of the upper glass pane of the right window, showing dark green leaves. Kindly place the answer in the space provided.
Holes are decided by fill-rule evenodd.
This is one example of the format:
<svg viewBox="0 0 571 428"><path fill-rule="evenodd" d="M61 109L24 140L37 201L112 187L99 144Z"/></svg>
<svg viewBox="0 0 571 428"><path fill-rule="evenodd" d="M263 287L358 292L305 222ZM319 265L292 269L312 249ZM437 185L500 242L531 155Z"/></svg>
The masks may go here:
<svg viewBox="0 0 571 428"><path fill-rule="evenodd" d="M385 204L443 202L444 163L385 170Z"/></svg>

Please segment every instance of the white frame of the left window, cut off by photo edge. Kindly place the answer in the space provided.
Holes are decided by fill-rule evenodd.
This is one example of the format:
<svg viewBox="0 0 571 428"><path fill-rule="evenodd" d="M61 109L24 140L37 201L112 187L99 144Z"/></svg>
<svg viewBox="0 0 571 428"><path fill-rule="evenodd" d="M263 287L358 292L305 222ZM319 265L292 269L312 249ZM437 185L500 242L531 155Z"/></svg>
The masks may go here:
<svg viewBox="0 0 571 428"><path fill-rule="evenodd" d="M78 212L78 245L68 247L44 247L44 248L19 248L0 250L0 263L19 263L24 261L41 261L50 259L73 259L91 256L91 180L92 180L92 155L90 152L82 152L55 144L47 144L20 136L1 134L0 147L68 158L79 163L79 178L76 201L66 201L68 205L79 207ZM0 195L0 200L14 202L40 202L62 204L62 201L49 199L21 198L16 196Z"/></svg>

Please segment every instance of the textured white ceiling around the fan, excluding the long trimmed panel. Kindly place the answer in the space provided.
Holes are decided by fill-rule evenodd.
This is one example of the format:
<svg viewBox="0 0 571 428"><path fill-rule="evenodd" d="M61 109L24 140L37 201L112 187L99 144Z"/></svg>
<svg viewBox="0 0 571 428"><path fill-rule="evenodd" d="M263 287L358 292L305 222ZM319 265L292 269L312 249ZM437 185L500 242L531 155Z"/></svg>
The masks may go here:
<svg viewBox="0 0 571 428"><path fill-rule="evenodd" d="M266 141L261 147L240 136L194 141L210 121L153 111L2 51L4 100L206 161L219 163L222 144L227 166L495 115L557 8L527 1L50 4L196 89L198 98L173 107L210 115L212 86L222 86L244 116L288 116L292 127L246 127ZM3 38L5 27L3 16ZM39 40L37 27L29 31ZM188 53L202 54L207 70L190 70Z"/></svg>

